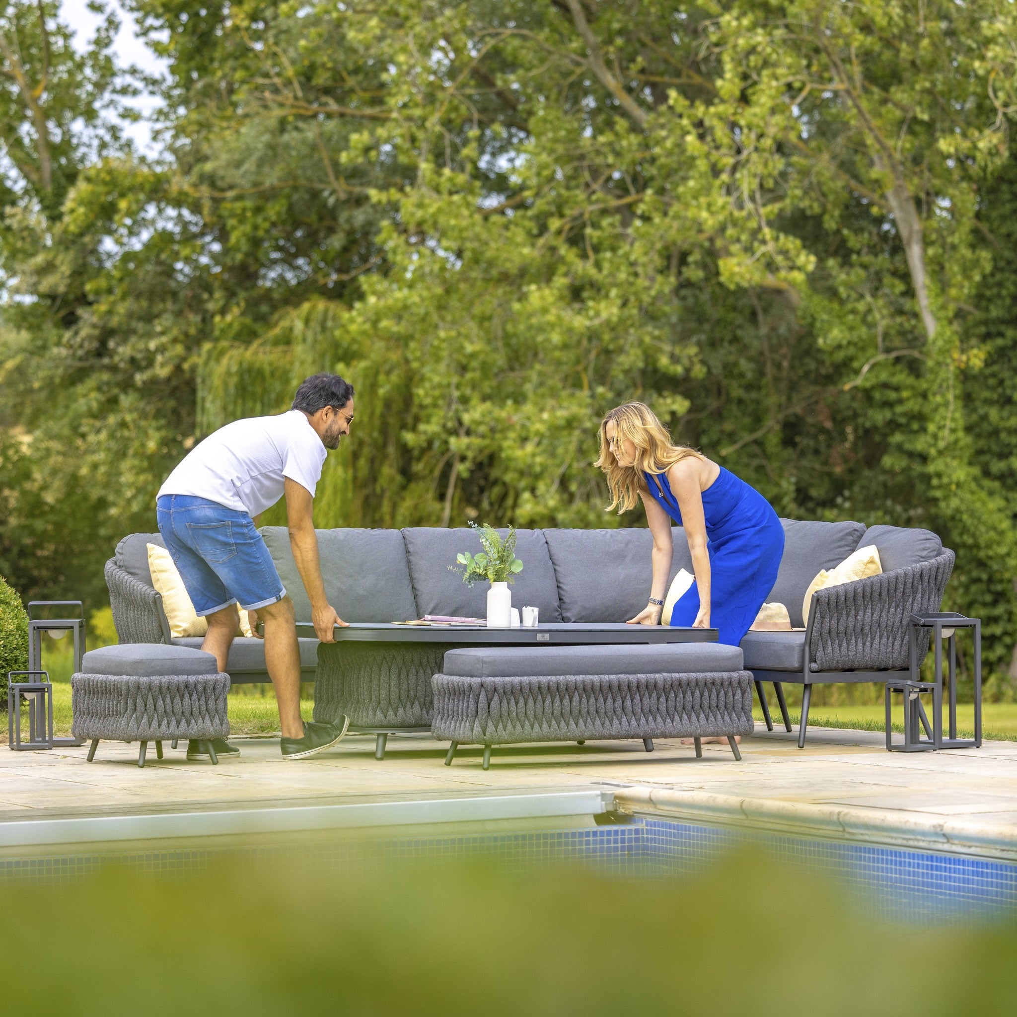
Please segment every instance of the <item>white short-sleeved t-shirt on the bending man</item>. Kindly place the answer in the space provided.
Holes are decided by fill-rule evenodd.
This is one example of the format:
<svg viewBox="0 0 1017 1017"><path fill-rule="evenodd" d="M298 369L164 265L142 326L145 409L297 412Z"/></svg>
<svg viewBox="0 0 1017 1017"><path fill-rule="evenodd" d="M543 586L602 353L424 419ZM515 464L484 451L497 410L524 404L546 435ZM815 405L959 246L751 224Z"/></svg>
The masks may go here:
<svg viewBox="0 0 1017 1017"><path fill-rule="evenodd" d="M196 444L158 496L190 494L253 518L283 496L284 477L313 497L326 455L300 410L234 420Z"/></svg>

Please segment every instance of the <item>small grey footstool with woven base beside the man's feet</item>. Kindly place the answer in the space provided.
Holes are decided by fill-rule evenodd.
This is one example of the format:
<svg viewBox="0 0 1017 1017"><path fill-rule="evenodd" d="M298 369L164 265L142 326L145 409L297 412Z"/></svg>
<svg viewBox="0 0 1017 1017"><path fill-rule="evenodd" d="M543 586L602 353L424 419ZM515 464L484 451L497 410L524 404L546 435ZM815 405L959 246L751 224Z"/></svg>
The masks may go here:
<svg viewBox="0 0 1017 1017"><path fill-rule="evenodd" d="M203 741L218 763L212 738L230 733L226 695L230 676L211 653L159 643L129 643L89 650L81 671L71 675L71 730L88 739L88 762L101 740L140 741L144 766L148 742L163 758L163 742Z"/></svg>

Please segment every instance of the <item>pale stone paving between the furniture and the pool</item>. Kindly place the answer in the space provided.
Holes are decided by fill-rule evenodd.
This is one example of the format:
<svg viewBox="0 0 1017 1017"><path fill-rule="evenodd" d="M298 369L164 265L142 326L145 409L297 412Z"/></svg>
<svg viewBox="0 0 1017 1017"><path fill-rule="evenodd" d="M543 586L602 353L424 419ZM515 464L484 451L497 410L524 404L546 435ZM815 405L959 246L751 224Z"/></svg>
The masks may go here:
<svg viewBox="0 0 1017 1017"><path fill-rule="evenodd" d="M279 743L238 738L242 756L188 763L184 747L103 742L42 753L0 751L0 842L4 823L25 819L292 807L320 801L406 800L435 795L612 789L619 805L693 822L749 825L776 832L875 841L1017 861L1017 744L904 755L883 735L815 728L804 750L793 735L757 725L735 762L726 745L661 739L495 747L481 769L480 747L393 736L383 761L372 737L348 737L326 754L284 762Z"/></svg>

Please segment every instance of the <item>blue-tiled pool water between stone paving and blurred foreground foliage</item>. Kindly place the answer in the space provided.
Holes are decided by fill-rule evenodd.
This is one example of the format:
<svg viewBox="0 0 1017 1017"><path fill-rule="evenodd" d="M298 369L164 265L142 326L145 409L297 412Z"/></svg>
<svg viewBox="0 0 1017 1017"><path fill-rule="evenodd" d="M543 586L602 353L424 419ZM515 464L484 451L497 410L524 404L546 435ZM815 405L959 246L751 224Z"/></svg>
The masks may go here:
<svg viewBox="0 0 1017 1017"><path fill-rule="evenodd" d="M385 865L401 860L443 860L482 853L512 866L575 861L621 878L695 876L729 850L766 851L806 876L838 881L866 914L915 923L968 923L1017 914L1017 865L983 858L908 851L857 843L733 831L635 817L629 822L570 829L442 835L440 828L413 837L364 842L298 838L228 848L154 848L113 855L151 873L187 873L224 854L264 856L296 851L309 865L327 869L356 858ZM0 879L62 882L97 870L110 854L65 854L0 859ZM801 905L804 901L790 902Z"/></svg>

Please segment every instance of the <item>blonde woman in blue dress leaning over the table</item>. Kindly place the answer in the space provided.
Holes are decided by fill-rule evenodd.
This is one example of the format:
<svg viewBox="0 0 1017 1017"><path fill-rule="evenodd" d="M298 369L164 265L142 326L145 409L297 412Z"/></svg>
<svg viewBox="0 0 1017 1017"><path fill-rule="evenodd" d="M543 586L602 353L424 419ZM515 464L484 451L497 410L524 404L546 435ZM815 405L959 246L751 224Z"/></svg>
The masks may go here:
<svg viewBox="0 0 1017 1017"><path fill-rule="evenodd" d="M655 625L671 571L671 520L683 526L696 582L675 603L672 625L714 627L718 642L738 646L773 589L784 529L770 503L693 448L671 443L643 403L625 403L600 425L599 466L613 500L608 508L646 507L653 534L653 586L630 624Z"/></svg>

